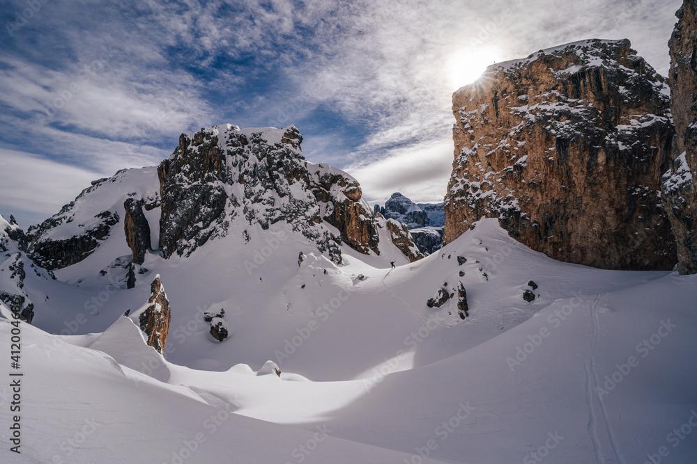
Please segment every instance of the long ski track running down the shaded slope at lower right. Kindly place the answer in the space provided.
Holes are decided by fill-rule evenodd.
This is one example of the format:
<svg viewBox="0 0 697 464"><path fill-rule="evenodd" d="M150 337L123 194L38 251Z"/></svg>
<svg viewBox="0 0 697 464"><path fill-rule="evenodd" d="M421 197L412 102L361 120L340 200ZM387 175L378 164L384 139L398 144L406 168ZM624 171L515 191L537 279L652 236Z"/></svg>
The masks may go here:
<svg viewBox="0 0 697 464"><path fill-rule="evenodd" d="M595 450L595 460L599 464L604 463L605 459L603 458L600 440L597 435L597 415L595 414L595 410L593 410L593 397L595 397L595 394L597 394L598 391L598 373L595 367L594 355L595 351L597 351L597 346L600 339L600 321L598 318L598 304L602 300L602 297L602 294L597 295L595 296L595 298L593 298L592 303L590 303L590 318L593 324L593 333L590 350L588 352L588 359L585 360L585 402L588 406L588 426L586 426L586 429L588 430L588 435L590 435L590 439L593 442L593 449ZM598 403L600 404L600 411L603 416L603 421L605 422L605 429L608 435L608 440L610 440L610 445L615 454L615 458L617 462L626 464L625 456L622 455L620 445L618 444L617 439L615 438L615 433L613 433L612 424L610 422L610 417L608 417L605 403L599 394L597 395L597 398Z"/></svg>

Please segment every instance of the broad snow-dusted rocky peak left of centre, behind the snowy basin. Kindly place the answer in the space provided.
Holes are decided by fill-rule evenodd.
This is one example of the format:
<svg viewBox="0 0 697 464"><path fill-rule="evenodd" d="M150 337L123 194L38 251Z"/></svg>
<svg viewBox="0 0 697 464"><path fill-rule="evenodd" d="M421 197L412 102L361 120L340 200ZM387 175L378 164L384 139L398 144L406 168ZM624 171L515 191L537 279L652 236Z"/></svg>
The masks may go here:
<svg viewBox="0 0 697 464"><path fill-rule="evenodd" d="M342 262L337 242L379 254L378 226L358 182L305 161L301 142L294 126L220 125L182 134L174 154L158 168L164 257L190 255L209 239L224 237L236 220L263 230L286 221L337 264Z"/></svg>

